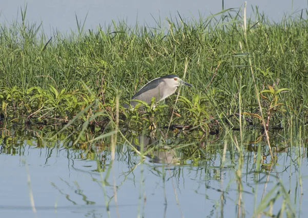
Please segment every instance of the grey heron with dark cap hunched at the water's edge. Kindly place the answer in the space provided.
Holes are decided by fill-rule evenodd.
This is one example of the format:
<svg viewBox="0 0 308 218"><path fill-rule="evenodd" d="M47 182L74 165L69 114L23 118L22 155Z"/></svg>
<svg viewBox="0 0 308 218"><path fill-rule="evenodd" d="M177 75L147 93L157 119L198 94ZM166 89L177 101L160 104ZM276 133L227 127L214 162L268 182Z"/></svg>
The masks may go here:
<svg viewBox="0 0 308 218"><path fill-rule="evenodd" d="M134 94L130 100L132 108L136 107L139 103L134 100L141 100L147 104L151 103L152 97L156 97L156 102L164 100L171 94L175 93L178 86L186 85L192 87L191 84L182 81L177 75L166 75L159 78L155 78L143 86L136 94ZM125 106L126 108L128 105Z"/></svg>

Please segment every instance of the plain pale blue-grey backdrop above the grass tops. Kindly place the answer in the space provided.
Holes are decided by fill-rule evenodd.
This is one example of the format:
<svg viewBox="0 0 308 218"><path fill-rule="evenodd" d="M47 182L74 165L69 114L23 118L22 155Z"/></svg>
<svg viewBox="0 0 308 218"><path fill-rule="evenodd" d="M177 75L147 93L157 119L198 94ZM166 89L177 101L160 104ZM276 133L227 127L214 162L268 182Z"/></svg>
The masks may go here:
<svg viewBox="0 0 308 218"><path fill-rule="evenodd" d="M210 16L222 10L223 1L196 0L196 1L102 1L91 0L90 3L81 0L67 1L41 1L41 0L10 0L1 2L0 24L11 24L16 18L21 21L21 7L27 3L27 21L40 24L48 35L54 30L61 32L76 31L76 17L79 22L86 18L85 29L96 29L98 26L112 24L123 19L128 25L136 22L150 27L156 26L160 18L175 17L178 13L185 18L199 18L199 15ZM244 0L224 1L224 9L243 8ZM247 15L253 15L252 7L259 7L259 11L276 22L281 21L284 14L292 15L294 12L307 8L305 0L251 0L247 1ZM299 13L297 13L298 15ZM304 13L305 14L305 13ZM168 26L168 24L166 24Z"/></svg>

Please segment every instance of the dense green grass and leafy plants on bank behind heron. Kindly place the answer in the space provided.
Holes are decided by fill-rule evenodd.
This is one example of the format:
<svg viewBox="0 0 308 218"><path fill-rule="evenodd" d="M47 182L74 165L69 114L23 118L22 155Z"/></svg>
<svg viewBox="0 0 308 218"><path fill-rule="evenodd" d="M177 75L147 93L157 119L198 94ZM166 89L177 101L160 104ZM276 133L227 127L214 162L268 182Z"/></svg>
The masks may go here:
<svg viewBox="0 0 308 218"><path fill-rule="evenodd" d="M176 109L181 117L174 116L172 123L201 125L207 131L212 118L241 112L260 116L254 119L267 126L282 119L282 126L290 125L292 116L304 125L307 19L294 14L270 22L257 8L254 17L245 26L243 11L227 9L199 19L158 20L155 27L114 22L85 30L78 23L76 32L48 37L22 11L22 23L0 28L0 113L11 120L69 122L86 108L82 122L95 113L103 117L101 122L115 122L117 99L123 105L152 78L171 73L182 77L187 60L185 81L194 88L181 90ZM267 90L264 97L262 90ZM175 98L168 98L168 105ZM127 112L126 121L137 128L140 117L150 124L155 113L153 122L167 125L172 109L157 110ZM241 118L232 125L242 128Z"/></svg>

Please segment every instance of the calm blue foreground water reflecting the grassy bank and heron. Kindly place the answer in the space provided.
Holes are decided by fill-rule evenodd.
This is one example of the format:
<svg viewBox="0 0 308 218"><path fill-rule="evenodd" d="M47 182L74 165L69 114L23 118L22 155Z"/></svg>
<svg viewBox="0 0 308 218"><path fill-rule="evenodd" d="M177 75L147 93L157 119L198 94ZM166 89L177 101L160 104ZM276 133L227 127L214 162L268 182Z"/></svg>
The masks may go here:
<svg viewBox="0 0 308 218"><path fill-rule="evenodd" d="M202 149L172 149L172 137L160 149L146 146L150 150L144 161L128 145L118 145L111 162L107 141L74 147L60 141L37 143L39 133L33 131L12 133L2 131L2 217L35 217L30 192L37 217L252 217L270 200L275 200L274 214L284 203L290 203L297 217L308 212L301 186L308 173L307 151L291 148L281 138L276 143L280 152L274 153L276 162L269 169L271 158L262 141L246 147L242 165L232 143L226 144L223 163L223 140ZM208 142L215 138L210 136ZM138 139L159 143L147 136ZM264 146L260 168L257 152L252 151L257 146Z"/></svg>

